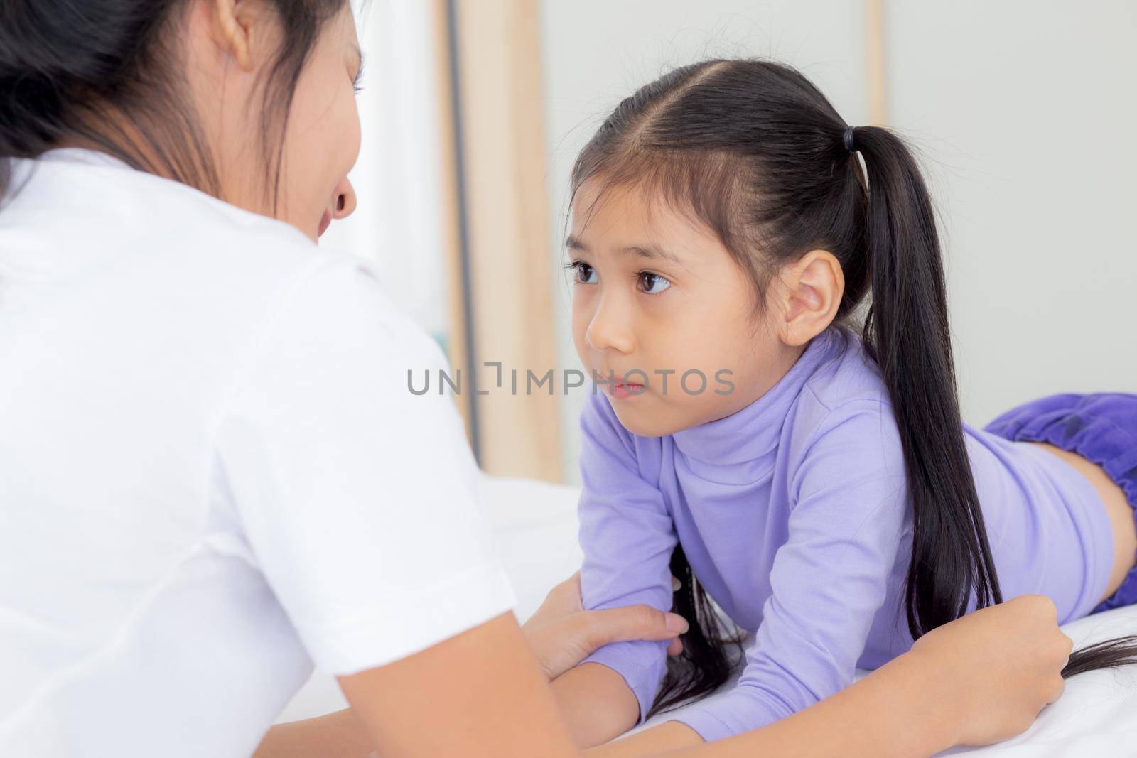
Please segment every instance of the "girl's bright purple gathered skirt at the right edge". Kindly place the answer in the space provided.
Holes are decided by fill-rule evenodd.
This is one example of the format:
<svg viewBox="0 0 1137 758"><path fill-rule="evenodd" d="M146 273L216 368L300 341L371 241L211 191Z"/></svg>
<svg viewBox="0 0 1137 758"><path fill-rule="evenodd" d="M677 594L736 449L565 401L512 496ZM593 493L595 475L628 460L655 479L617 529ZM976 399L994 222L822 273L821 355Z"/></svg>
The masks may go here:
<svg viewBox="0 0 1137 758"><path fill-rule="evenodd" d="M1137 394L1055 394L1013 408L986 426L1007 440L1046 442L1101 466L1137 518ZM1137 567L1090 613L1137 603Z"/></svg>

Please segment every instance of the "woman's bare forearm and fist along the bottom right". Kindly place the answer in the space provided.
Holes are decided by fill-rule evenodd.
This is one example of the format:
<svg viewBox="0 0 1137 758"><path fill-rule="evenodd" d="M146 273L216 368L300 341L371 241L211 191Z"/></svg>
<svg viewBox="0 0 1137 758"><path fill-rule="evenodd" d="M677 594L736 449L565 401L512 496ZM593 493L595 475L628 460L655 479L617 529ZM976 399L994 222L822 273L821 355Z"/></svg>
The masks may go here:
<svg viewBox="0 0 1137 758"><path fill-rule="evenodd" d="M1026 731L1062 694L1072 642L1056 620L1049 598L1022 595L933 630L863 680L770 726L699 745L694 730L669 722L584 755L655 756L670 745L684 749L667 756L910 758L998 742Z"/></svg>

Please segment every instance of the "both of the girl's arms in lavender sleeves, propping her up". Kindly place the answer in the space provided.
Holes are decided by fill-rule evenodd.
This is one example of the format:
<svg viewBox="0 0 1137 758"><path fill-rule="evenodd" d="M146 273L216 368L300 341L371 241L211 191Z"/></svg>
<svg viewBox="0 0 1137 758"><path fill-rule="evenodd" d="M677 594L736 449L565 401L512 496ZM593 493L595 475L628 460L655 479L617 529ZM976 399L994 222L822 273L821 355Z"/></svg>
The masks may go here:
<svg viewBox="0 0 1137 758"><path fill-rule="evenodd" d="M905 526L903 458L888 422L880 403L848 403L819 426L805 459L790 472L787 540L774 558L772 597L738 685L674 718L689 728L657 727L638 740L678 747L691 731L721 740L786 718L852 683L898 565ZM604 397L586 403L581 431L584 605L665 607L675 538L662 494L640 475L658 468L647 460L654 449L628 435ZM845 455L865 444L880 450L871 465ZM587 661L592 665L554 683L570 730L586 748L642 718L666 657L658 644L624 643Z"/></svg>

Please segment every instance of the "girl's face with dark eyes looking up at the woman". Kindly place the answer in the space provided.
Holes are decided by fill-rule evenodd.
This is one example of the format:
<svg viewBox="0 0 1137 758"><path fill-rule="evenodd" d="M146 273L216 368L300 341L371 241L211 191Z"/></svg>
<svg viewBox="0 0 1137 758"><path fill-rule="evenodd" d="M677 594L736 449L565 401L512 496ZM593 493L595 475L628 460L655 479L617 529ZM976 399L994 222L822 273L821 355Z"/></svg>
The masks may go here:
<svg viewBox="0 0 1137 758"><path fill-rule="evenodd" d="M764 394L802 348L755 316L754 289L722 242L638 188L609 188L598 200L599 189L581 185L566 243L573 342L586 370L605 380L621 424L662 436Z"/></svg>

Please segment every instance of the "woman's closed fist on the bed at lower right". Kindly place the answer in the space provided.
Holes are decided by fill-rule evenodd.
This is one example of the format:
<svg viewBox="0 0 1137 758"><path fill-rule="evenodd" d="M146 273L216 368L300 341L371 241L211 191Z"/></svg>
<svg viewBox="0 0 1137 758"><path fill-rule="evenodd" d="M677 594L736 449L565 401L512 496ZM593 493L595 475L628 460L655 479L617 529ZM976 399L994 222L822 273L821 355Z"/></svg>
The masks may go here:
<svg viewBox="0 0 1137 758"><path fill-rule="evenodd" d="M956 744L989 744L1024 732L1062 694L1073 642L1057 626L1054 602L1026 594L969 614L916 640L938 675L927 686L954 705Z"/></svg>

